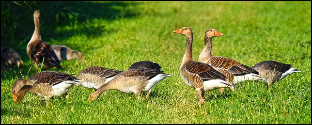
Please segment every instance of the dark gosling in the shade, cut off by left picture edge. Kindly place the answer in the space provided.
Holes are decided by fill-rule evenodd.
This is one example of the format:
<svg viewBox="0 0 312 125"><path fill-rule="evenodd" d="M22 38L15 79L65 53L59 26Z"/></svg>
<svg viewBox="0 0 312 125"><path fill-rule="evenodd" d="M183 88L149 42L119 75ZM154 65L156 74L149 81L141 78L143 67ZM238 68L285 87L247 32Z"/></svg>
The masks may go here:
<svg viewBox="0 0 312 125"><path fill-rule="evenodd" d="M10 70L17 64L19 71L23 68L23 61L18 57L18 53L9 47L1 48L1 68L10 67Z"/></svg>

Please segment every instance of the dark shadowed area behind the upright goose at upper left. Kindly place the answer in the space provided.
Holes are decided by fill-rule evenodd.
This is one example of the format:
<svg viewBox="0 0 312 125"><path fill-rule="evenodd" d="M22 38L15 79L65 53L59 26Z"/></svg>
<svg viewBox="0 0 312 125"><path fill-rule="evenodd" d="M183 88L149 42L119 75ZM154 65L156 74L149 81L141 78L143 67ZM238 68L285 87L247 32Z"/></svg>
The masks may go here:
<svg viewBox="0 0 312 125"><path fill-rule="evenodd" d="M40 10L40 33L43 41L47 43L51 39L68 38L77 34L94 37L109 34L115 31L106 30L105 25L94 24L92 20L114 21L140 15L136 1L16 1L16 3L1 1L1 48L11 47L17 51L24 62L23 75L28 73L31 66L29 74L36 72L33 70L33 64L29 63L31 61L26 52L34 31L32 16L34 10ZM65 65L62 67L65 68ZM11 73L5 73L9 75L6 78L15 77L16 74L12 73L14 70L18 72L16 66L12 71L6 71ZM46 70L55 69L42 71Z"/></svg>

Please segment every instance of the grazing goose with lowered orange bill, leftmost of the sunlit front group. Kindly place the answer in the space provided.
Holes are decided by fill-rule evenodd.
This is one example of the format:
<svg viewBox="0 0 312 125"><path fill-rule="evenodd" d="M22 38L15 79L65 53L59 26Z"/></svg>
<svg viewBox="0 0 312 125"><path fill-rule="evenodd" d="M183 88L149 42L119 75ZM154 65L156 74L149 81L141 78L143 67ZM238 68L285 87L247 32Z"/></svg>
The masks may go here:
<svg viewBox="0 0 312 125"><path fill-rule="evenodd" d="M33 81L33 79L36 80ZM48 106L48 100L50 97L65 94L70 87L77 84L80 79L65 73L44 71L31 76L27 80L18 80L19 82L32 82L33 85L25 84L22 88L20 88L20 90L16 93L17 104L19 104L20 100L23 99L26 92L30 92L31 94L37 94L43 97L47 101Z"/></svg>

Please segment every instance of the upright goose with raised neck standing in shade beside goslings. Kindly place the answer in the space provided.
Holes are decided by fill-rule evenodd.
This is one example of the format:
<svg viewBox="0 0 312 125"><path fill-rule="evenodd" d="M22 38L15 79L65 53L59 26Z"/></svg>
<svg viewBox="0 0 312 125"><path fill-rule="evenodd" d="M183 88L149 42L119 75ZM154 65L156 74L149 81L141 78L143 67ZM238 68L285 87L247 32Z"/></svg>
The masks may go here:
<svg viewBox="0 0 312 125"><path fill-rule="evenodd" d="M43 62L43 68L57 67L61 69L61 64L59 58L56 56L53 48L42 41L40 30L39 30L39 10L35 10L33 13L33 20L35 24L35 30L32 34L31 40L27 45L27 54L31 59L31 62L37 66L41 67Z"/></svg>

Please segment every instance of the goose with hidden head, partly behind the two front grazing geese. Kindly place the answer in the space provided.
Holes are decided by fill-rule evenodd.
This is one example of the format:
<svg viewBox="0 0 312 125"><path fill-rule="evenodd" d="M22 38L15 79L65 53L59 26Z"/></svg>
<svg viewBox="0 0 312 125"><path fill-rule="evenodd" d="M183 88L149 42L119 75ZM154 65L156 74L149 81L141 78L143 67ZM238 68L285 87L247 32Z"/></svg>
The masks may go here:
<svg viewBox="0 0 312 125"><path fill-rule="evenodd" d="M91 66L81 70L77 78L81 79L76 86L98 89L122 71L101 66Z"/></svg>

